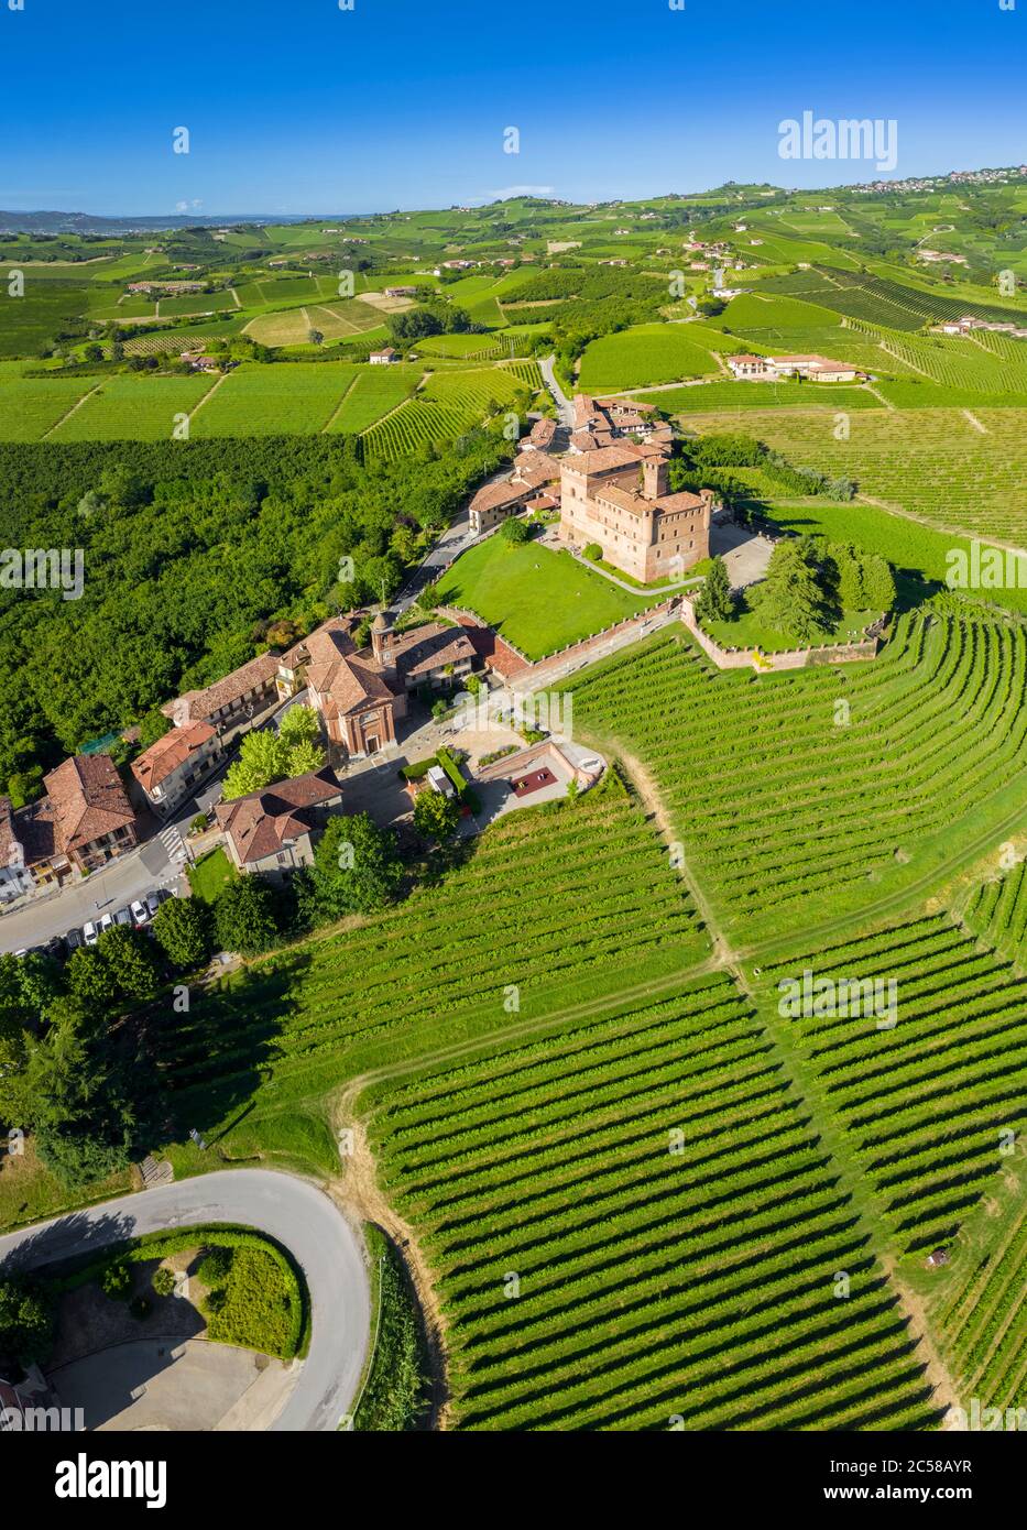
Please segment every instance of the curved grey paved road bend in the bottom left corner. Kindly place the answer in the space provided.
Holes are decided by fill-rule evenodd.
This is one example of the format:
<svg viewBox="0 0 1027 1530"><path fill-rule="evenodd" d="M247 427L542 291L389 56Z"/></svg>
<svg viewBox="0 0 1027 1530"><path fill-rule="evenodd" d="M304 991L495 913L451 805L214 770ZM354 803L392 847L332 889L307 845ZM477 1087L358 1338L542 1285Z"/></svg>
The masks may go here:
<svg viewBox="0 0 1027 1530"><path fill-rule="evenodd" d="M122 1238L240 1222L283 1244L311 1293L311 1348L297 1383L272 1424L288 1431L334 1431L350 1408L370 1336L370 1288L352 1227L306 1180L269 1169L233 1169L162 1184L0 1238L0 1267L35 1267Z"/></svg>

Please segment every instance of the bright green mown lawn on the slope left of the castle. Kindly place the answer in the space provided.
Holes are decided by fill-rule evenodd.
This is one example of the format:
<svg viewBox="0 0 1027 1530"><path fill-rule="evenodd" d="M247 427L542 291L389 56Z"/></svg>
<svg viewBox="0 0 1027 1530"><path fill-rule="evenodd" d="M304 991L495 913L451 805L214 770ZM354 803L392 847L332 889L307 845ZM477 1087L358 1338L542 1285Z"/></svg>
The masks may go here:
<svg viewBox="0 0 1027 1530"><path fill-rule="evenodd" d="M439 581L444 604L474 610L531 659L634 617L660 594L629 595L569 552L511 546L502 534L470 548Z"/></svg>

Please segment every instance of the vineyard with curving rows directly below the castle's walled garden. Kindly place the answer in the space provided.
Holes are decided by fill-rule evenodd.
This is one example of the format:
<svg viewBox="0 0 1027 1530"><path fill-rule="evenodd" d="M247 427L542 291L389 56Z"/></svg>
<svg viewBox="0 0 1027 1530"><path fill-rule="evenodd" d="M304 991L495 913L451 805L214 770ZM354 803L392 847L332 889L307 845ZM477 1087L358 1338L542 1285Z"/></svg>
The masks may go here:
<svg viewBox="0 0 1027 1530"><path fill-rule="evenodd" d="M1025 670L1025 626L914 614L866 664L719 673L660 636L571 688L579 725L652 771L722 927L753 941L938 875L1022 805Z"/></svg>

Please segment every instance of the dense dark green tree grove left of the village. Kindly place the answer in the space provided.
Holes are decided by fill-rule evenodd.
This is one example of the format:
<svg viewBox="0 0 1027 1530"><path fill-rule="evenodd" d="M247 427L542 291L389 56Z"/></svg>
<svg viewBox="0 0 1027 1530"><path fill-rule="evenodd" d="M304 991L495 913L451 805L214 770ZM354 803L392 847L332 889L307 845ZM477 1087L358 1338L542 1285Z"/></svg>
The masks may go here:
<svg viewBox="0 0 1027 1530"><path fill-rule="evenodd" d="M0 589L0 791L147 721L332 609L392 594L422 534L511 454L471 431L373 471L332 436L0 445L0 545L83 551L80 600ZM413 539L412 534L413 532ZM396 551L399 549L399 551Z"/></svg>

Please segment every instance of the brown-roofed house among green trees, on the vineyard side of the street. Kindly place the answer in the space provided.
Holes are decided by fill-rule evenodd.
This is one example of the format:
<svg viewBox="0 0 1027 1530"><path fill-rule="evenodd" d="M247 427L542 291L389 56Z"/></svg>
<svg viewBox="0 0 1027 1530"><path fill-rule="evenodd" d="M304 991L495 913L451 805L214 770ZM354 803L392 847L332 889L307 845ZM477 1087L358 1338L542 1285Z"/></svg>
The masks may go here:
<svg viewBox="0 0 1027 1530"><path fill-rule="evenodd" d="M314 837L341 800L341 786L324 767L222 802L214 812L233 866L280 878L312 864Z"/></svg>

